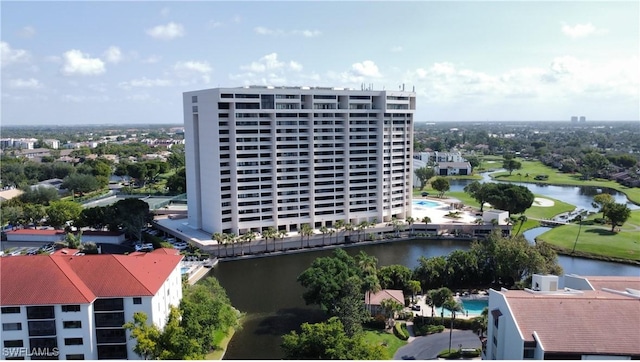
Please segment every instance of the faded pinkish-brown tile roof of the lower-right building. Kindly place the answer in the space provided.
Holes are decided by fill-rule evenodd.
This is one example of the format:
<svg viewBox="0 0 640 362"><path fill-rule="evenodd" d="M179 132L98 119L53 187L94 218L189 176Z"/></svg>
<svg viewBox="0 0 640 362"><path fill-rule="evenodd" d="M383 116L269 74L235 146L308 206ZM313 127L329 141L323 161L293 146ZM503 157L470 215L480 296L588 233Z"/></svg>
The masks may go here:
<svg viewBox="0 0 640 362"><path fill-rule="evenodd" d="M640 278L629 281L633 285ZM534 341L536 332L545 352L640 356L638 298L598 290L573 295L508 291L505 296L524 340Z"/></svg>

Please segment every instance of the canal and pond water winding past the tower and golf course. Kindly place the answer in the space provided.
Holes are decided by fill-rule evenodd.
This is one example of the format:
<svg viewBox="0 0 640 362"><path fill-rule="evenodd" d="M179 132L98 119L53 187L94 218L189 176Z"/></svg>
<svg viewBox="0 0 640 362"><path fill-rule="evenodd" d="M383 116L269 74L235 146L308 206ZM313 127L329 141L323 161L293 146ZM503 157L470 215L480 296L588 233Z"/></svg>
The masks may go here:
<svg viewBox="0 0 640 362"><path fill-rule="evenodd" d="M490 181L484 175L484 181ZM451 191L462 191L470 181L451 180ZM596 211L591 205L593 196L607 192L616 202L632 209L640 208L628 202L624 194L595 187L545 186L523 183L536 195L544 195L576 205L578 209ZM524 233L533 241L546 228ZM453 250L466 250L469 242L454 240L395 241L393 243L346 248L351 255L364 251L378 258L378 266L402 264L411 269L420 256L448 255ZM296 278L318 257L331 255L331 250L290 254L277 257L221 262L211 272L226 289L233 305L244 312L243 328L229 343L225 359L281 359L281 336L304 322L317 322L323 315L315 306L307 306L302 299L304 289ZM559 256L565 273L580 275L640 276L640 267L598 260Z"/></svg>

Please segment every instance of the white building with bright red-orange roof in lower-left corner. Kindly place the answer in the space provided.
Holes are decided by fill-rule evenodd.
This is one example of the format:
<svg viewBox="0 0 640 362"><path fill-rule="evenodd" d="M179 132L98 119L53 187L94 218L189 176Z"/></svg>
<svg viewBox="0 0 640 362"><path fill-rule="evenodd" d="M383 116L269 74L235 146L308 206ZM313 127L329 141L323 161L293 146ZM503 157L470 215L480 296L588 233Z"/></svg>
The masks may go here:
<svg viewBox="0 0 640 362"><path fill-rule="evenodd" d="M140 359L122 325L145 312L164 327L182 299L180 260L174 249L0 258L0 359Z"/></svg>

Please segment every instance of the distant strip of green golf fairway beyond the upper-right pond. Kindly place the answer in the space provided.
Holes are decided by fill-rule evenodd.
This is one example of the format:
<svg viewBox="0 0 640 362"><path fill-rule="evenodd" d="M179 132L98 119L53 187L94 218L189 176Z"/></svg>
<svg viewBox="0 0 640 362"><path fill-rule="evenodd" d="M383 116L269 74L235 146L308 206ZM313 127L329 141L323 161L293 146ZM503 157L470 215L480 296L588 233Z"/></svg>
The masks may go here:
<svg viewBox="0 0 640 362"><path fill-rule="evenodd" d="M521 159L518 159L518 161L522 163L522 168L520 170L514 170L511 176L509 176L509 172L497 172L491 174L491 178L501 181L534 182L549 185L608 187L624 193L633 203L640 204L640 188L638 187L626 187L615 181L602 179L585 181L581 179L579 173L570 174L559 172L556 169L545 166L540 161L524 161ZM527 174L529 174L529 177L527 177ZM534 180L536 175L547 175L549 179L547 181L537 181Z"/></svg>

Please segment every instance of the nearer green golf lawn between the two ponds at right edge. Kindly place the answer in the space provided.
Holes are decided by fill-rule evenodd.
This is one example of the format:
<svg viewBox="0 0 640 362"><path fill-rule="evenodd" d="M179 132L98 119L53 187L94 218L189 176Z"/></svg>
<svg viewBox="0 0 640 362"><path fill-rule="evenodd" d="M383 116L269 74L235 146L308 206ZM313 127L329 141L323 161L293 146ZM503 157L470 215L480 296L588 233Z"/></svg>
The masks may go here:
<svg viewBox="0 0 640 362"><path fill-rule="evenodd" d="M611 232L610 225L593 222L592 215L582 223L582 230L576 244L576 254L593 256L594 254L613 259L640 262L640 210L631 212L631 217L617 233ZM578 224L555 227L538 236L537 240L547 242L562 253L569 254L578 235Z"/></svg>

